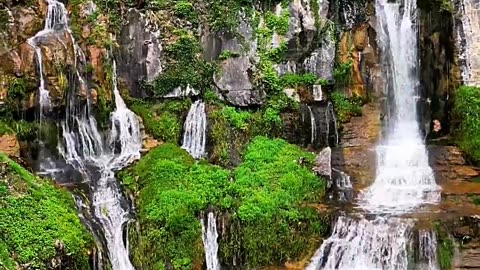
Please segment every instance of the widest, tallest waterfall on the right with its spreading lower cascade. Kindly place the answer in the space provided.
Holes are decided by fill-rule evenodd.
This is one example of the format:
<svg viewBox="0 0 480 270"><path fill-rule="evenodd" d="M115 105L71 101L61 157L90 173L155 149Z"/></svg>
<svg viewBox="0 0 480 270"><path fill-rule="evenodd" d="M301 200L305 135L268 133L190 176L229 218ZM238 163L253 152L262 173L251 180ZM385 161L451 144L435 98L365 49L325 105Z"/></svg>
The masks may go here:
<svg viewBox="0 0 480 270"><path fill-rule="evenodd" d="M358 198L359 208L373 215L341 216L308 270L438 269L435 234L421 232L412 248L415 220L396 216L440 200L417 122L416 0L403 5L377 0L376 14L379 43L391 68L394 111L386 138L377 146L375 182ZM409 261L412 249L420 249L419 261Z"/></svg>

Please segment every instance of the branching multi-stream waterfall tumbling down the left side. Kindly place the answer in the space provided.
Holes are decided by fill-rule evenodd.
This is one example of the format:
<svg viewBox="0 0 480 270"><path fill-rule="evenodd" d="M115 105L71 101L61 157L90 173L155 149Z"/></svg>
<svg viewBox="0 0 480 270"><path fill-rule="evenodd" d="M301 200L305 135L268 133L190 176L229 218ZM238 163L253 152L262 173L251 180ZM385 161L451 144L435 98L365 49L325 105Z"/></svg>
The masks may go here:
<svg viewBox="0 0 480 270"><path fill-rule="evenodd" d="M39 105L48 105L48 91L42 73L41 51L37 46L37 39L42 35L65 30L70 33L73 41L75 58L80 57L79 46L75 43L71 30L68 28L67 11L65 6L55 0L48 0L48 13L45 29L29 40L37 52L37 62L40 69L40 99ZM81 90L86 89L85 82L79 72L78 62L75 59L75 78L70 83L66 98L65 119L59 121L62 130L62 140L58 145L58 152L64 162L82 176L82 181L88 185L88 201L80 196L74 196L77 207L89 212L84 220L99 227L100 238L103 238L108 249L108 257L114 270L134 269L128 251L123 241L123 227L128 221L129 206L122 197L122 192L115 179L115 171L127 166L130 162L140 158L141 136L140 124L137 116L125 105L116 80L116 65L113 61L113 89L116 109L111 115L111 130L102 132L98 129L95 117L92 114L93 98L87 91L86 98ZM42 114L42 113L41 113ZM53 171L61 171L58 164L45 161ZM68 176L68 173L66 174ZM70 174L71 175L71 174ZM56 175L52 175L55 177ZM88 224L93 229L94 226ZM94 234L96 231L94 232ZM98 239L98 235L95 235ZM102 241L103 242L103 241ZM102 257L100 254L99 257ZM100 263L98 267L103 267Z"/></svg>

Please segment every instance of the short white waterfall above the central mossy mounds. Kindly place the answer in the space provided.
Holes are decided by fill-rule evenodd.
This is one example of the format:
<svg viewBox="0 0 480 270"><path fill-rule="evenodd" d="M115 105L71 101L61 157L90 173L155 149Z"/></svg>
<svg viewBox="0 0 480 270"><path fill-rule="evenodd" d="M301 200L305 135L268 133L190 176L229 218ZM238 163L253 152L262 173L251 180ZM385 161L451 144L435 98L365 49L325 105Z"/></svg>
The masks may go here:
<svg viewBox="0 0 480 270"><path fill-rule="evenodd" d="M182 148L196 159L205 156L207 142L207 115L205 103L197 100L192 104L185 120Z"/></svg>

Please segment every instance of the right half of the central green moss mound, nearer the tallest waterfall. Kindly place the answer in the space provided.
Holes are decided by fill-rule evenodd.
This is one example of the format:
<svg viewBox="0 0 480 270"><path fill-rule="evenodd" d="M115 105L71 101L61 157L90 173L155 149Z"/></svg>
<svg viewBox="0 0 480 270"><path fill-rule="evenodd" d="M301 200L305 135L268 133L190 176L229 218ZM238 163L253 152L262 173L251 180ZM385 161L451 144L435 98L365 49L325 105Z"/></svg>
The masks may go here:
<svg viewBox="0 0 480 270"><path fill-rule="evenodd" d="M248 146L230 188L236 198L234 220L240 226L222 243L225 259L241 250L247 268L259 269L317 248L317 237L326 233L328 223L304 207L321 201L325 190L325 182L310 169L313 159L313 154L279 139L257 137Z"/></svg>

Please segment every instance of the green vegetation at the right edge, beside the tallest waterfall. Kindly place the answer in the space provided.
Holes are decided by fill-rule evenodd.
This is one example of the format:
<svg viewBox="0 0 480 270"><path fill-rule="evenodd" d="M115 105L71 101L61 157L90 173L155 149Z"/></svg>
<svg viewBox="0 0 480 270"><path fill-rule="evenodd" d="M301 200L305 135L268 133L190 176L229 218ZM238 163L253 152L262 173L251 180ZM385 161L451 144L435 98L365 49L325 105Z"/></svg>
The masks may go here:
<svg viewBox="0 0 480 270"><path fill-rule="evenodd" d="M458 145L476 163L480 162L480 88L458 89L455 111L460 120Z"/></svg>

